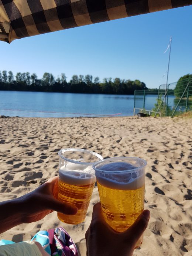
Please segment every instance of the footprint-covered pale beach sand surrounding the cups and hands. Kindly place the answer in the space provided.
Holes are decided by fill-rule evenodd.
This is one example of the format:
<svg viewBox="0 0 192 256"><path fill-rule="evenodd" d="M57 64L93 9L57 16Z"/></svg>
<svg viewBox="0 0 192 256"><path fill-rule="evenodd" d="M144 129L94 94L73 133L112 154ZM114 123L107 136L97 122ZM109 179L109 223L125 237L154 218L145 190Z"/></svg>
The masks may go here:
<svg viewBox="0 0 192 256"><path fill-rule="evenodd" d="M58 151L75 147L104 158L136 156L147 160L145 209L151 218L143 245L135 256L192 255L192 119L170 118L7 118L0 119L0 200L16 198L58 174ZM39 230L62 225L81 256L86 255L85 223L67 225L56 212L41 221L22 224L0 239L28 240Z"/></svg>

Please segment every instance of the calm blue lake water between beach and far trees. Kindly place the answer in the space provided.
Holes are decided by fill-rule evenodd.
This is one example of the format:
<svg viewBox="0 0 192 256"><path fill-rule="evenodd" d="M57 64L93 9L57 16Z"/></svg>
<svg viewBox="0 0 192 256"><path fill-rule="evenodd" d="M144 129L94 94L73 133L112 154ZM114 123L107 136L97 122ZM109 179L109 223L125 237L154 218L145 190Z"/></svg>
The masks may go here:
<svg viewBox="0 0 192 256"><path fill-rule="evenodd" d="M156 95L147 95L152 109ZM174 98L173 98L174 100ZM134 95L0 91L0 115L23 117L132 116ZM137 98L143 106L143 98Z"/></svg>

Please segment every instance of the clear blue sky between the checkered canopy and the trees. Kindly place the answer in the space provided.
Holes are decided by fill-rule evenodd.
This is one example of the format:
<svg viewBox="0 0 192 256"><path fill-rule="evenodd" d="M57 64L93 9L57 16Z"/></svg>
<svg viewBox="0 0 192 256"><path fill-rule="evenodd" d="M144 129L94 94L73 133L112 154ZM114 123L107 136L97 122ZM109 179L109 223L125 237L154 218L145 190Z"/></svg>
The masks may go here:
<svg viewBox="0 0 192 256"><path fill-rule="evenodd" d="M192 74L192 6L0 41L0 71L139 79L148 88ZM165 74L165 76L163 76Z"/></svg>

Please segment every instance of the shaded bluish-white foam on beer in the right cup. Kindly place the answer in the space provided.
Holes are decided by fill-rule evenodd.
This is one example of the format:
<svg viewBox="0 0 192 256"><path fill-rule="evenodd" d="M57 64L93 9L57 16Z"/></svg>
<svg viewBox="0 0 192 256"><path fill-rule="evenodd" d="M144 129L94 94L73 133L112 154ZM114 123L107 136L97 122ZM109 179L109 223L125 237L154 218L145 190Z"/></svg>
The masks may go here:
<svg viewBox="0 0 192 256"><path fill-rule="evenodd" d="M138 170L135 172L122 172L129 171L139 167L137 164L129 164L124 162L114 162L105 164L100 168L100 171L96 171L96 179L99 184L119 190L136 190L141 188L145 184L144 170ZM114 174L113 174L114 172Z"/></svg>

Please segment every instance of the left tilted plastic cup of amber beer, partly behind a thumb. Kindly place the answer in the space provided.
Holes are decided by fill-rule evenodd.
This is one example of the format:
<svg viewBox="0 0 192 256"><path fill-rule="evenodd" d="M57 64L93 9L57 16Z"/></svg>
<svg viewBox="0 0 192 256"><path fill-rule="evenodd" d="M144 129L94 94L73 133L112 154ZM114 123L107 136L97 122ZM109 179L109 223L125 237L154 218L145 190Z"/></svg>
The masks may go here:
<svg viewBox="0 0 192 256"><path fill-rule="evenodd" d="M103 157L83 149L61 149L58 154L58 200L78 208L76 215L58 212L58 218L65 223L79 224L85 220L96 181L92 164Z"/></svg>

